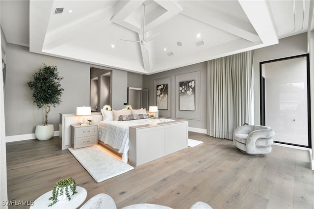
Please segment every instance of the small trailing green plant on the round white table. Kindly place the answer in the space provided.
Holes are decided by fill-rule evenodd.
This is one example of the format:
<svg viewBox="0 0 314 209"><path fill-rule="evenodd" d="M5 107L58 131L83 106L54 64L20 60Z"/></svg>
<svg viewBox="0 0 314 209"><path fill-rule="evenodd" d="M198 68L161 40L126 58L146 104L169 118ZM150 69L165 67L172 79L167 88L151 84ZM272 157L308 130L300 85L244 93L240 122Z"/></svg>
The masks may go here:
<svg viewBox="0 0 314 209"><path fill-rule="evenodd" d="M65 188L65 194L67 196L67 199L71 200L68 186L70 186L70 189L73 192L73 194L78 193L76 191L77 184L75 183L73 178L61 179L59 182L55 183L53 186L52 197L49 198L49 200L52 200L52 203L49 204L49 207L58 201L58 196L63 195L63 191L64 191L63 188Z"/></svg>

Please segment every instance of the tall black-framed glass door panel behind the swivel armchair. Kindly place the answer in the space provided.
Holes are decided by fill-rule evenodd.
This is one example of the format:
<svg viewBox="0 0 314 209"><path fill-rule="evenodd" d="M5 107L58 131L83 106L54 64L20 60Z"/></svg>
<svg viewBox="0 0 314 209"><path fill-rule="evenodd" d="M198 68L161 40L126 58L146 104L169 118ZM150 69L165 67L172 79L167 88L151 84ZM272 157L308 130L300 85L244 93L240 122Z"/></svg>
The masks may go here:
<svg viewBox="0 0 314 209"><path fill-rule="evenodd" d="M274 141L311 148L309 54L260 63L261 125Z"/></svg>

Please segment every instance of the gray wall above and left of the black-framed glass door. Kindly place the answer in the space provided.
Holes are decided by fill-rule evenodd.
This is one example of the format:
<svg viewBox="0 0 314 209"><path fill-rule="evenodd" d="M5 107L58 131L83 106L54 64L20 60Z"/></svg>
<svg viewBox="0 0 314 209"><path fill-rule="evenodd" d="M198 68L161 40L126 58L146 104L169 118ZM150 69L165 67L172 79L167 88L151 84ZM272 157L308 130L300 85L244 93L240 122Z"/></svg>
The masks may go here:
<svg viewBox="0 0 314 209"><path fill-rule="evenodd" d="M307 33L279 40L273 46L254 50L254 124L261 124L260 117L260 62L307 53Z"/></svg>

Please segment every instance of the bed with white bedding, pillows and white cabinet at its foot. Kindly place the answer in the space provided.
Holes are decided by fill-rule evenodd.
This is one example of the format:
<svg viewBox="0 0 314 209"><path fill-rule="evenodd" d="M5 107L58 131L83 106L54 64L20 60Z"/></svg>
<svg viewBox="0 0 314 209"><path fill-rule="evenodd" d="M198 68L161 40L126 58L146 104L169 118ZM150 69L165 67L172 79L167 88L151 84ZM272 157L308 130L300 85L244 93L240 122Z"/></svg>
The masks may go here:
<svg viewBox="0 0 314 209"><path fill-rule="evenodd" d="M104 120L98 123L98 140L118 150L118 153L122 153L122 160L129 161L133 166L139 166L187 147L188 121L165 118L131 120L127 118L118 121L111 117L113 114L117 119L115 115L117 112L104 112L102 111ZM106 114L109 114L109 119ZM120 118L122 116L119 115Z"/></svg>

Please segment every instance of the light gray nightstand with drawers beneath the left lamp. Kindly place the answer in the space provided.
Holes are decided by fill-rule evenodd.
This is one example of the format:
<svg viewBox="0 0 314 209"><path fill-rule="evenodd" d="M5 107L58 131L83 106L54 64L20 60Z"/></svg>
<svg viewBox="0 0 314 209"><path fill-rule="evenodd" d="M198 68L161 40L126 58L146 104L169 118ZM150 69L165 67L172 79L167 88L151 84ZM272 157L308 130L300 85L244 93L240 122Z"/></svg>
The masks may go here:
<svg viewBox="0 0 314 209"><path fill-rule="evenodd" d="M73 149L97 144L97 125L71 125L71 146Z"/></svg>

